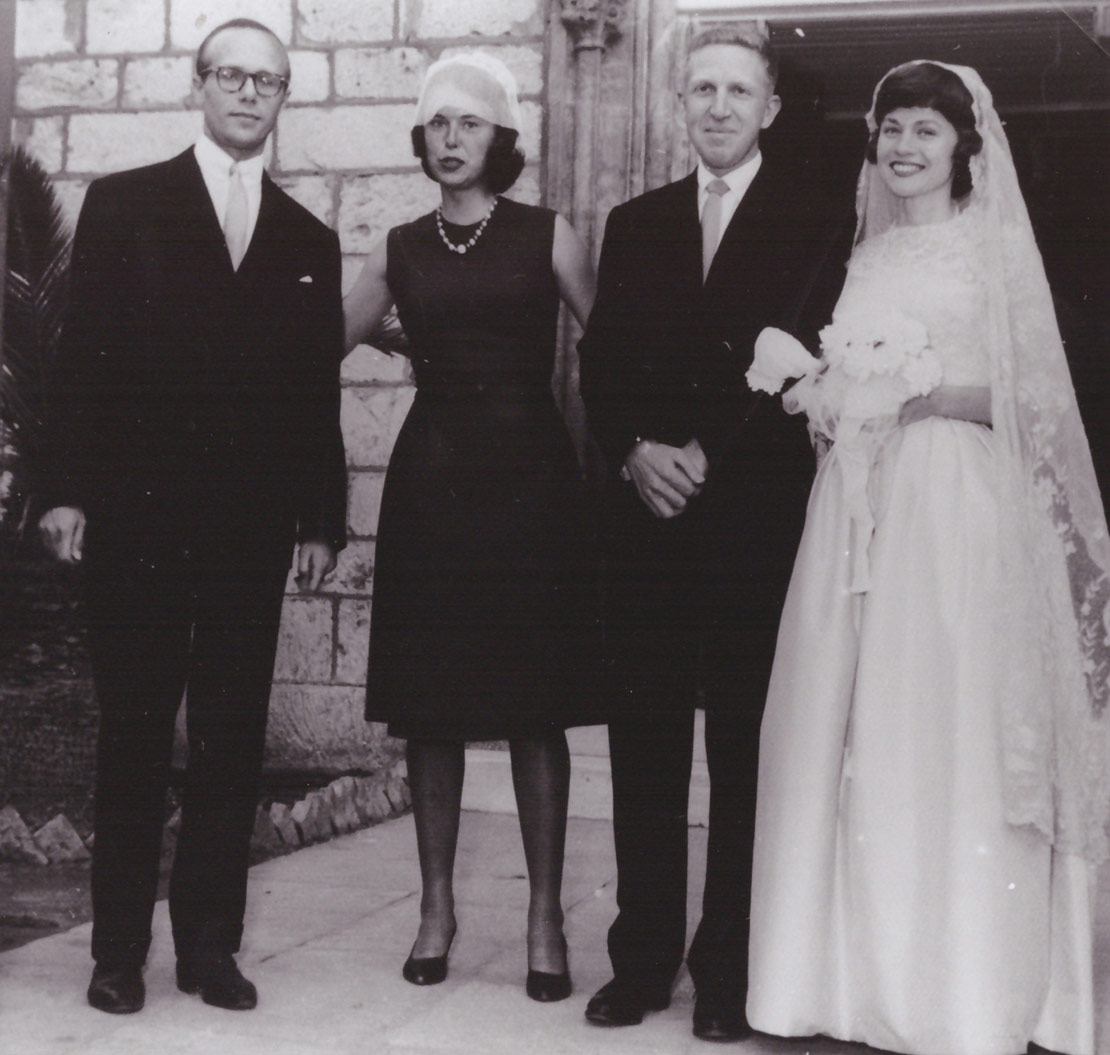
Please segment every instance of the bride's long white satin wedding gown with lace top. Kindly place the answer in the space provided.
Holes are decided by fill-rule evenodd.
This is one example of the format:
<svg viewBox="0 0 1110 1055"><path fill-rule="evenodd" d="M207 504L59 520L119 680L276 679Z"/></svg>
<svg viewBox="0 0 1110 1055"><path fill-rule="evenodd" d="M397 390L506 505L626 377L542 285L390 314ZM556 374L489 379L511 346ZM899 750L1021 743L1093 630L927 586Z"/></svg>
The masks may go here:
<svg viewBox="0 0 1110 1055"><path fill-rule="evenodd" d="M989 385L977 260L962 217L891 228L857 249L837 316L900 308L945 383ZM889 436L866 593L836 446L817 473L760 737L756 1029L1093 1053L1093 870L1002 815L992 441L940 418Z"/></svg>

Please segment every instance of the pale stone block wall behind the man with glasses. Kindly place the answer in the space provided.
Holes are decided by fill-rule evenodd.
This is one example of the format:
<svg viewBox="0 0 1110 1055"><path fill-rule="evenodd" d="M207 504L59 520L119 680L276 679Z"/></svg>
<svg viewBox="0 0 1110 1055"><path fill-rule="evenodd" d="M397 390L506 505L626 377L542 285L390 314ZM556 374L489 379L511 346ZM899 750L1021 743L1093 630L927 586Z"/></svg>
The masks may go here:
<svg viewBox="0 0 1110 1055"><path fill-rule="evenodd" d="M428 63L456 49L500 56L521 86L528 167L514 197L539 201L548 0L17 0L12 139L52 173L75 219L89 182L192 143L192 57L239 16L290 50L292 86L271 174L340 232L344 280L390 227L437 201L408 130ZM412 402L405 360L356 349L343 363L350 543L324 594L290 585L274 671L269 762L364 771L392 754L362 721L374 536L384 468Z"/></svg>

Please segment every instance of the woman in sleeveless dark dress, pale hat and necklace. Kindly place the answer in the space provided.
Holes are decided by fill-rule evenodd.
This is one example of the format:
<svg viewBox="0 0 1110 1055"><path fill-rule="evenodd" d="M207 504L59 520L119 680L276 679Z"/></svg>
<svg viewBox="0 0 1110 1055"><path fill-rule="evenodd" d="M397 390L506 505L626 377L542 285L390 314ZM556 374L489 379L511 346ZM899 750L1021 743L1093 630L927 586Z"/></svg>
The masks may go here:
<svg viewBox="0 0 1110 1055"><path fill-rule="evenodd" d="M430 68L413 147L442 204L390 231L344 309L353 346L396 304L416 382L382 498L366 690L367 720L407 740L423 896L403 974L446 976L464 746L507 740L527 992L552 1001L571 993L565 730L601 717L591 531L551 381L559 300L584 324L594 272L562 217L498 197L524 163L519 128L501 62Z"/></svg>

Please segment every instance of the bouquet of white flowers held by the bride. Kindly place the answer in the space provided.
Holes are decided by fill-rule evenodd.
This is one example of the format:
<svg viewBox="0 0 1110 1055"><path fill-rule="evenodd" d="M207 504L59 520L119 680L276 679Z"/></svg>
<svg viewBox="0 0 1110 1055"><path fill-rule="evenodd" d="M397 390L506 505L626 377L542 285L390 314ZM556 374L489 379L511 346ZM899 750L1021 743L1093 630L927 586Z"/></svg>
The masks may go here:
<svg viewBox="0 0 1110 1055"><path fill-rule="evenodd" d="M834 320L820 332L821 356L815 359L783 330L765 329L756 339L755 360L746 378L754 391L781 391L788 413L805 411L817 434L836 439L894 424L901 405L927 395L941 379L940 360L929 334L916 319L870 305Z"/></svg>

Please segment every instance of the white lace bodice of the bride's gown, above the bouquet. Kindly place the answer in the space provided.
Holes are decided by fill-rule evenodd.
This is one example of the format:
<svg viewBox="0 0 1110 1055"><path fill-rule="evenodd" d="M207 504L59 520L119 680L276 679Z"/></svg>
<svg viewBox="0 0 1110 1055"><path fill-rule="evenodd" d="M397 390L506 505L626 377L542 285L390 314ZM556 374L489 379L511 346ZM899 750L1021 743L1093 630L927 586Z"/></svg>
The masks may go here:
<svg viewBox="0 0 1110 1055"><path fill-rule="evenodd" d="M851 258L835 321L897 309L929 333L945 384L989 385L986 287L977 225L968 213L940 223L891 227Z"/></svg>

